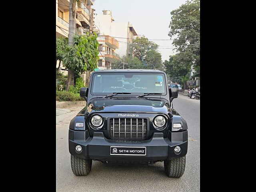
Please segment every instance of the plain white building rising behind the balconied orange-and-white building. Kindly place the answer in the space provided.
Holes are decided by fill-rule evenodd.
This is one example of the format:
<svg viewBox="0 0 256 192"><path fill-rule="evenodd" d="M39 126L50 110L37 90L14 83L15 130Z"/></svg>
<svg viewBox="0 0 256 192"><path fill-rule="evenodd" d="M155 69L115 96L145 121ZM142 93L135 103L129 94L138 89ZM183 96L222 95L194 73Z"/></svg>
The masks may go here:
<svg viewBox="0 0 256 192"><path fill-rule="evenodd" d="M132 54L132 39L137 36L132 24L130 22L115 22L111 10L103 10L102 12L103 14L97 14L94 18L94 23L99 28L100 37L112 36L127 38L115 38L119 42L115 53L121 58L123 56L130 56Z"/></svg>

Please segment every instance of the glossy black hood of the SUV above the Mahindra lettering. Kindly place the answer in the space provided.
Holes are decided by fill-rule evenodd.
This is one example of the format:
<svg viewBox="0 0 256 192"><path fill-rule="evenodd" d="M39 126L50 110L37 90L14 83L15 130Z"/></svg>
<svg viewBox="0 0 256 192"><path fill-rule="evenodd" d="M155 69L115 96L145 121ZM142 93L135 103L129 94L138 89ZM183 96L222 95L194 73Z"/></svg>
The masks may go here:
<svg viewBox="0 0 256 192"><path fill-rule="evenodd" d="M84 110L84 111L83 111ZM95 98L90 100L83 113L94 112L142 112L168 113L170 104L162 98ZM81 111L81 112L82 112Z"/></svg>

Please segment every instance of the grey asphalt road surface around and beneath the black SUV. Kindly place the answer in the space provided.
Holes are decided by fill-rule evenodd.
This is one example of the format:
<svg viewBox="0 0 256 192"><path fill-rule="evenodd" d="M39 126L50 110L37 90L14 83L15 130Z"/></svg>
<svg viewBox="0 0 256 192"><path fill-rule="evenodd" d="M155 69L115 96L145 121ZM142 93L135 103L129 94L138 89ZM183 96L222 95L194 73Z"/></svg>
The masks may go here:
<svg viewBox="0 0 256 192"><path fill-rule="evenodd" d="M181 178L168 178L164 163L110 165L92 162L88 176L75 176L70 167L68 125L81 107L56 110L56 191L58 192L198 192L200 191L200 100L179 94L174 108L188 123L188 153ZM58 123L57 123L58 122Z"/></svg>

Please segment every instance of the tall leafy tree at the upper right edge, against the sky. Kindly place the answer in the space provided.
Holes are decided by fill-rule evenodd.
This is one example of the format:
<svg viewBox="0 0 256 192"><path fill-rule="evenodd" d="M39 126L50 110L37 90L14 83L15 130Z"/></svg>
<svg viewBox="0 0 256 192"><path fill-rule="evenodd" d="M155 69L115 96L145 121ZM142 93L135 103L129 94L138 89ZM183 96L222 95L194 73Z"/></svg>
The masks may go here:
<svg viewBox="0 0 256 192"><path fill-rule="evenodd" d="M189 72L193 66L200 75L200 0L187 1L171 15L168 36L178 51L173 68Z"/></svg>

